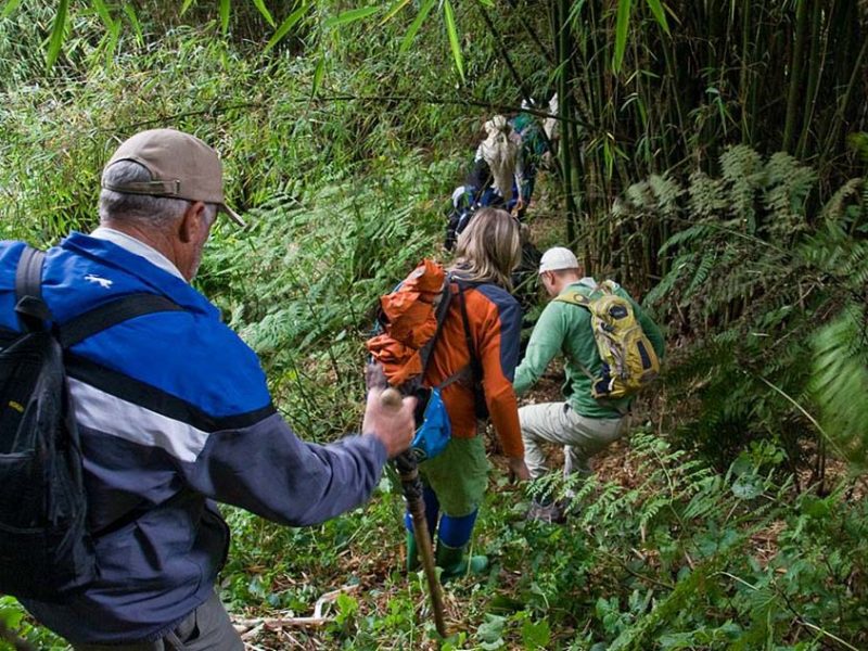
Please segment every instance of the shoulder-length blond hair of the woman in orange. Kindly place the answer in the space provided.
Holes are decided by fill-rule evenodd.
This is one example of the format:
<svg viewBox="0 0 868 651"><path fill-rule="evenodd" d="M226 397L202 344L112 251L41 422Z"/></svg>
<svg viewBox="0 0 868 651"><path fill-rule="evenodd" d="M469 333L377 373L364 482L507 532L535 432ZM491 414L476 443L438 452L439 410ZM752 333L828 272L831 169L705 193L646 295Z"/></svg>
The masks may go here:
<svg viewBox="0 0 868 651"><path fill-rule="evenodd" d="M458 237L450 270L471 282L492 282L512 291L510 276L522 256L519 221L506 210L482 208Z"/></svg>

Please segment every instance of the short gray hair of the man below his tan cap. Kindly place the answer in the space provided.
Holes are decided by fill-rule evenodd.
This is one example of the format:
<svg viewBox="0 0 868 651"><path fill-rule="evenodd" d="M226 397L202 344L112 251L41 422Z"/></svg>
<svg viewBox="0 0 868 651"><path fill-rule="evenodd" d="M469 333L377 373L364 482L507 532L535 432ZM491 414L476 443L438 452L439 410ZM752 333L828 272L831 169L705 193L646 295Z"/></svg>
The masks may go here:
<svg viewBox="0 0 868 651"><path fill-rule="evenodd" d="M102 173L103 186L120 186L129 182L151 181L151 173L135 161L118 161ZM193 204L186 199L129 194L114 190L100 191L100 220L137 224L154 229L165 229L180 219ZM217 206L205 204L209 222L217 216Z"/></svg>

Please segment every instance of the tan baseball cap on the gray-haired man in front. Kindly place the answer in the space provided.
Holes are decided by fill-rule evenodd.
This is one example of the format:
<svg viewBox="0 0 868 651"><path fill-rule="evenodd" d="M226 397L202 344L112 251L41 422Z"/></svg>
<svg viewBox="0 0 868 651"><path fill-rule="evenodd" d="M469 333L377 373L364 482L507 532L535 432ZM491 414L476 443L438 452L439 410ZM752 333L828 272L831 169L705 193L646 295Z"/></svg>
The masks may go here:
<svg viewBox="0 0 868 651"><path fill-rule="evenodd" d="M244 226L238 213L224 203L224 170L217 152L195 136L175 129L141 131L120 143L105 168L118 161L144 166L151 180L116 184L103 179L105 190L217 204L219 212Z"/></svg>

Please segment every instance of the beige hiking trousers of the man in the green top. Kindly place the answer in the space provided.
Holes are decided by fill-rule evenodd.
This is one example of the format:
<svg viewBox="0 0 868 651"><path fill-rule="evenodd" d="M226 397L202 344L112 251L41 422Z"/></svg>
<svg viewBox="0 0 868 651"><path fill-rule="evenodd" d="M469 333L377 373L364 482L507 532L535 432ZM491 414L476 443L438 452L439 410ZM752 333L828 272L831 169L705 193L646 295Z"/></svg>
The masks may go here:
<svg viewBox="0 0 868 651"><path fill-rule="evenodd" d="M627 418L586 418L566 403L541 403L519 409L524 462L536 480L548 472L542 443L564 446L564 476L590 474L588 460L627 431Z"/></svg>

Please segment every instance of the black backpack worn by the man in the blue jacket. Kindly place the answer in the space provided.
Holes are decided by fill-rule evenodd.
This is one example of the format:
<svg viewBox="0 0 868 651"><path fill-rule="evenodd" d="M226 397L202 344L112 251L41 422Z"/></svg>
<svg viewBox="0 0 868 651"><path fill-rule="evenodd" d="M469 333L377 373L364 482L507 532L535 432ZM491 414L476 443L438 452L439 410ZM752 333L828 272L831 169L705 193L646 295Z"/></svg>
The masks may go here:
<svg viewBox="0 0 868 651"><path fill-rule="evenodd" d="M131 294L59 326L42 301L44 255L27 246L18 261L23 332L0 329L0 592L59 601L97 577L93 540L102 533L88 528L64 350L127 319L182 308Z"/></svg>

